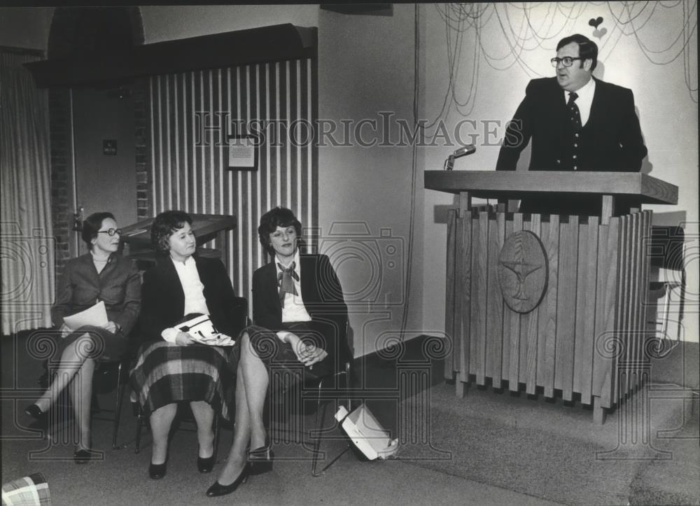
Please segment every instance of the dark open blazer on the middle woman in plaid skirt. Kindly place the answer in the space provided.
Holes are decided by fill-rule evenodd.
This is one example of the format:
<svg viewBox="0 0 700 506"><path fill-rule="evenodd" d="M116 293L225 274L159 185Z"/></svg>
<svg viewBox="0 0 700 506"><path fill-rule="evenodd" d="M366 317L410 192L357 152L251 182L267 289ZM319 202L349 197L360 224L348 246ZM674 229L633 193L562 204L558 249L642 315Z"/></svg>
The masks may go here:
<svg viewBox="0 0 700 506"><path fill-rule="evenodd" d="M219 260L194 255L197 273L204 285L209 318L219 332L236 339L241 330L233 308L237 304L231 281ZM141 340L162 339L160 333L185 316L185 292L169 255L160 255L144 274L141 287Z"/></svg>

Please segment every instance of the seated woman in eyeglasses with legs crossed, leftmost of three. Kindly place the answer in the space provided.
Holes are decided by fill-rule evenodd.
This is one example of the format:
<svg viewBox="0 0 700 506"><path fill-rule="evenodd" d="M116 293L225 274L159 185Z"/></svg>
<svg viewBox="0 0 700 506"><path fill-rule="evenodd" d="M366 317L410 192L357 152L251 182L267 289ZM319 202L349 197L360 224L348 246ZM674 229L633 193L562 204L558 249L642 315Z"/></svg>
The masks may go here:
<svg viewBox="0 0 700 506"><path fill-rule="evenodd" d="M60 335L55 356L57 372L47 390L25 412L45 419L50 407L66 386L78 426L78 448L73 459L85 463L97 454L91 451L90 401L92 374L97 358L118 360L127 349L127 336L139 315L141 277L131 260L118 254L121 230L112 213L94 213L83 221L83 241L89 253L66 262L57 286L51 318ZM71 329L66 316L104 302L108 322Z"/></svg>

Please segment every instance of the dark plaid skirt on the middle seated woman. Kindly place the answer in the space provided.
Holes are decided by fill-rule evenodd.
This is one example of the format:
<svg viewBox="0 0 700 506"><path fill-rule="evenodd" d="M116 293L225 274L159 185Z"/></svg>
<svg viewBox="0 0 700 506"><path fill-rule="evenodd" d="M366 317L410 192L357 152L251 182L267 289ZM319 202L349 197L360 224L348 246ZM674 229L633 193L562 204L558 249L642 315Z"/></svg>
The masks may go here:
<svg viewBox="0 0 700 506"><path fill-rule="evenodd" d="M179 401L204 400L230 420L235 398L236 368L230 348L167 341L148 342L139 349L132 370L132 402L146 415Z"/></svg>

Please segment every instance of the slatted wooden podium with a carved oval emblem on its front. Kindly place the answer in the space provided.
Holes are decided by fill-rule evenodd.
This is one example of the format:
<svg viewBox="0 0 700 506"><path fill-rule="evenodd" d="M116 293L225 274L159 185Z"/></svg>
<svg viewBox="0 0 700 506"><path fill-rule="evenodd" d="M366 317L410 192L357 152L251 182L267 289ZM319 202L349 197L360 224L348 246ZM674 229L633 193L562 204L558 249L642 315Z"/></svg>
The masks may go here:
<svg viewBox="0 0 700 506"><path fill-rule="evenodd" d="M463 396L472 377L564 400L580 395L603 423L641 385L652 211L678 188L638 173L426 171L425 188L459 195L447 220L445 377ZM601 216L472 208L472 197L594 194ZM615 201L629 213L613 216Z"/></svg>

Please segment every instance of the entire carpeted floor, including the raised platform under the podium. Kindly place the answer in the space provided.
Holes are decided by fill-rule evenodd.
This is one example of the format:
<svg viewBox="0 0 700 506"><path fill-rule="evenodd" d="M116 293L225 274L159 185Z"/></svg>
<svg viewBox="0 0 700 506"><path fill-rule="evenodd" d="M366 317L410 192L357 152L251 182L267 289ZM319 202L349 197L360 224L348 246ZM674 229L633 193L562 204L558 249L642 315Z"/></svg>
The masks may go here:
<svg viewBox="0 0 700 506"><path fill-rule="evenodd" d="M111 450L111 423L95 420L94 447L104 451L104 460L76 465L70 426L49 440L27 428L31 421L22 408L38 393L38 367L24 346L4 342L0 358L2 482L42 472L55 505L700 504L697 403L673 385L652 384L647 405L629 402L629 409L597 426L591 411L577 404L491 388L470 388L458 399L454 386L430 387L425 377L401 400L405 395L395 395L400 388L393 386L421 375L394 374L384 365L363 371L365 391L358 395L372 398L367 405L400 440L395 459L367 462L347 452L323 477L312 478L309 452L277 433L275 470L252 477L233 496L211 500L204 491L225 459L230 428L221 431L212 475L196 470L195 433L178 430L168 474L155 482L147 477L150 435L134 454L135 419L125 402L118 437L123 448ZM112 399L113 393L103 393L99 404L108 407ZM638 408L642 416L628 422ZM313 421L305 417L302 430ZM332 425L330 413L325 425ZM330 458L344 441L324 445Z"/></svg>

